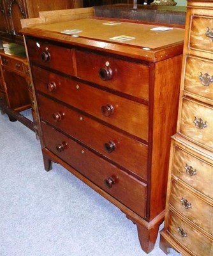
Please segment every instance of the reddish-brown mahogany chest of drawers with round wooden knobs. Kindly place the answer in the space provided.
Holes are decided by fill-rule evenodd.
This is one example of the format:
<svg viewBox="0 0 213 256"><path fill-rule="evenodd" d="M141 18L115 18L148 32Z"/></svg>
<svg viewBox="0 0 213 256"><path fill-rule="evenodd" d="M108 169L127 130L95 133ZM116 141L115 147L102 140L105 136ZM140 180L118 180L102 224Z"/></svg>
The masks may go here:
<svg viewBox="0 0 213 256"><path fill-rule="evenodd" d="M184 39L184 29L156 27L80 19L22 29L45 170L62 164L119 207L145 252L164 219ZM121 31L131 40L117 41Z"/></svg>

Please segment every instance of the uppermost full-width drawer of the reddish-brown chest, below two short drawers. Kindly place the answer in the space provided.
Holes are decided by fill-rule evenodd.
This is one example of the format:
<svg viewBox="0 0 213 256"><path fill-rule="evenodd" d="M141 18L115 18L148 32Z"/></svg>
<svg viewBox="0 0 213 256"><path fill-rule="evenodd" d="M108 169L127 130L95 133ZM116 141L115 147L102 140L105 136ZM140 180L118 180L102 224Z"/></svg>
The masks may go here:
<svg viewBox="0 0 213 256"><path fill-rule="evenodd" d="M148 106L33 67L36 90L148 140ZM54 90L48 85L55 84Z"/></svg>

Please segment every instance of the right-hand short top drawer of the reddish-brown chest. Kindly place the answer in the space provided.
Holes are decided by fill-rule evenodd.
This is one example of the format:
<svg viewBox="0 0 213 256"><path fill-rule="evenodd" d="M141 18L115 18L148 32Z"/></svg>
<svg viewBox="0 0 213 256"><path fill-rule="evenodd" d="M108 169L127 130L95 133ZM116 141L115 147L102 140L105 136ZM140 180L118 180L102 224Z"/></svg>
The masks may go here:
<svg viewBox="0 0 213 256"><path fill-rule="evenodd" d="M76 60L81 79L149 99L148 65L83 51L76 51Z"/></svg>

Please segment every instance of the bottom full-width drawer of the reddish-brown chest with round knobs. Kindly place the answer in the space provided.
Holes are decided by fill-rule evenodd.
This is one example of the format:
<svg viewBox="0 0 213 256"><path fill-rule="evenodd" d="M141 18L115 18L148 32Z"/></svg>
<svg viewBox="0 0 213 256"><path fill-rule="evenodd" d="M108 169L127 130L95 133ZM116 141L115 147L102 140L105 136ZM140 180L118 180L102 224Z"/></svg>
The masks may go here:
<svg viewBox="0 0 213 256"><path fill-rule="evenodd" d="M49 125L41 122L41 127L45 147L48 150L121 201L122 204L140 216L145 217L145 184L98 157Z"/></svg>

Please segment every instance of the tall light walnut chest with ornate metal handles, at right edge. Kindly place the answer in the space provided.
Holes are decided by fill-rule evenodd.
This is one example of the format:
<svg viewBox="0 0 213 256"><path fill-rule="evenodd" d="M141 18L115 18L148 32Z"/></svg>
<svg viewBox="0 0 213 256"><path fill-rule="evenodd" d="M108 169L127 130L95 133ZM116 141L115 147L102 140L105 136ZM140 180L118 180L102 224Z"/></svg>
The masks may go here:
<svg viewBox="0 0 213 256"><path fill-rule="evenodd" d="M177 134L160 246L213 254L213 3L188 1Z"/></svg>

